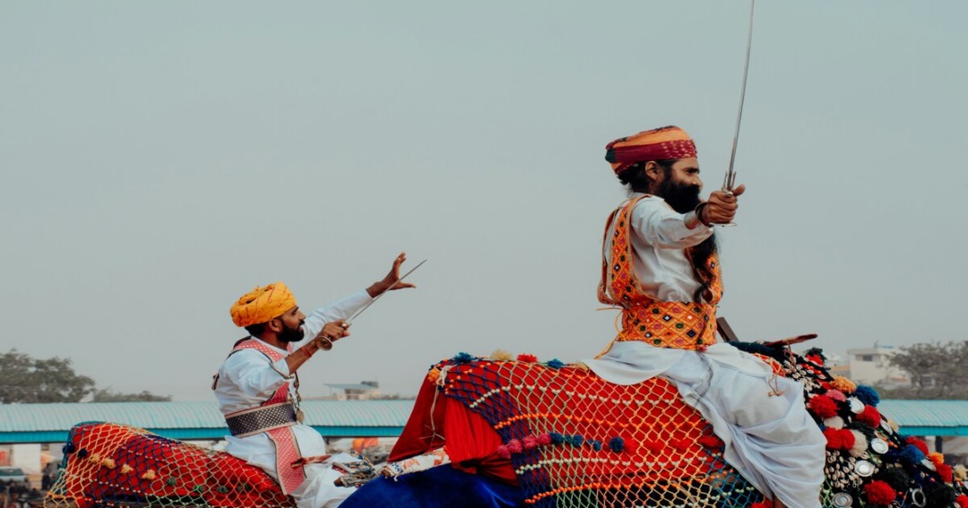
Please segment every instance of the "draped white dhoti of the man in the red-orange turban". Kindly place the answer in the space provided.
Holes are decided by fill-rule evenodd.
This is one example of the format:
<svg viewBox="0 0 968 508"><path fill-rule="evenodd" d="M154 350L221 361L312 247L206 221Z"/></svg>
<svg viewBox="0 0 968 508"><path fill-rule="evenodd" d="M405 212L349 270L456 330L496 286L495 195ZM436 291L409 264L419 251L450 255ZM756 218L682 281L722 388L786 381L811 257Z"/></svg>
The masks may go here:
<svg viewBox="0 0 968 508"><path fill-rule="evenodd" d="M827 439L806 411L799 382L774 377L766 363L729 344L696 352L621 342L583 363L616 384L656 375L675 382L723 440L723 457L753 487L790 508L820 506ZM782 394L771 396L773 387Z"/></svg>

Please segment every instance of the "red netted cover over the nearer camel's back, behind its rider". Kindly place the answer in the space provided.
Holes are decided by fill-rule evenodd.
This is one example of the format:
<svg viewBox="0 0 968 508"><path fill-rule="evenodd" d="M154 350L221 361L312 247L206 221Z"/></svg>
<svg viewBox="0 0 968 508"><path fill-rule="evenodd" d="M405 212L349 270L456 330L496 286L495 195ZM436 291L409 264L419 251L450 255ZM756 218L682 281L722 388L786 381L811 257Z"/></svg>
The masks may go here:
<svg viewBox="0 0 968 508"><path fill-rule="evenodd" d="M448 361L447 397L483 416L532 506L748 506L762 495L672 383L608 383L571 366ZM448 442L448 447L455 443Z"/></svg>

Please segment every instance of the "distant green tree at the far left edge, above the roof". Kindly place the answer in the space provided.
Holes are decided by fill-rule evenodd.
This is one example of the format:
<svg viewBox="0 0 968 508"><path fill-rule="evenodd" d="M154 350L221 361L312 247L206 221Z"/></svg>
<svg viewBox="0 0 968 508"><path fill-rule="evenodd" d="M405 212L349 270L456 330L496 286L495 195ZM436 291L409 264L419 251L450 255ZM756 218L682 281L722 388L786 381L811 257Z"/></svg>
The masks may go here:
<svg viewBox="0 0 968 508"><path fill-rule="evenodd" d="M0 373L0 403L76 403L94 390L94 379L66 358L35 360L11 349L0 354Z"/></svg>

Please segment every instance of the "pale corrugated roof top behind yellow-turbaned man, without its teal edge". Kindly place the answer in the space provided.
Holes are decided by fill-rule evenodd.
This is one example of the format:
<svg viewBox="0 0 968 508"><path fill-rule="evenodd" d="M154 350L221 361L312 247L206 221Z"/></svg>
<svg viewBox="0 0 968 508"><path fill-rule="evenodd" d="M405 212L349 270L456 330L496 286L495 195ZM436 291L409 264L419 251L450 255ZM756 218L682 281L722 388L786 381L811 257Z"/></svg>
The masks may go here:
<svg viewBox="0 0 968 508"><path fill-rule="evenodd" d="M313 427L403 427L413 401L304 401ZM66 431L81 422L141 429L223 429L215 402L0 404L0 433Z"/></svg>

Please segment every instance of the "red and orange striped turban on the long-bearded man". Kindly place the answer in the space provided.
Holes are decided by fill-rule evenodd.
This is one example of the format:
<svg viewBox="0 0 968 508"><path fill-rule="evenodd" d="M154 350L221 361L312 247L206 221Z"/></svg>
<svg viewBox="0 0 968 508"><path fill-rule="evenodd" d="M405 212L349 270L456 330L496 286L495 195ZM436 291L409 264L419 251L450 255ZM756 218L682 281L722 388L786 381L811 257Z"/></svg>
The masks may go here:
<svg viewBox="0 0 968 508"><path fill-rule="evenodd" d="M605 150L605 160L615 174L635 163L696 157L696 143L674 126L621 137L605 145Z"/></svg>

